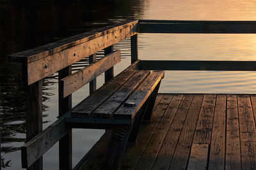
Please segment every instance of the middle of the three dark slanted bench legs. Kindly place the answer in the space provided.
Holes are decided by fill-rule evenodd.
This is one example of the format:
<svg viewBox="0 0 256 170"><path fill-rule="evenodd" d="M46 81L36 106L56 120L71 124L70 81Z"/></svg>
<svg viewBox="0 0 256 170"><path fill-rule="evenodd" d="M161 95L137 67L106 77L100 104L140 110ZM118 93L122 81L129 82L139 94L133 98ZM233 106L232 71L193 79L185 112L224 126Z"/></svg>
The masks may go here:
<svg viewBox="0 0 256 170"><path fill-rule="evenodd" d="M132 126L132 130L131 130L131 134L129 136L128 143L127 143L127 145L129 146L136 145L138 132L140 130L140 125L147 111L149 101L150 101L150 97L148 97L147 101L143 104L143 106L140 108L140 110L136 114L136 117Z"/></svg>

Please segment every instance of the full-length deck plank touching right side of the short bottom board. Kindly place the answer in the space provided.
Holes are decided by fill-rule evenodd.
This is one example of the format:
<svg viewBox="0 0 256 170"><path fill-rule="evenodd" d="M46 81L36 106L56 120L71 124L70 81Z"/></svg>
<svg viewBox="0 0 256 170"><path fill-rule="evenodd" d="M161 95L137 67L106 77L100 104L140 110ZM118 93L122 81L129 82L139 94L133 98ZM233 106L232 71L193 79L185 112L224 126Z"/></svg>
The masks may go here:
<svg viewBox="0 0 256 170"><path fill-rule="evenodd" d="M217 95L208 169L225 169L226 102L227 95Z"/></svg>

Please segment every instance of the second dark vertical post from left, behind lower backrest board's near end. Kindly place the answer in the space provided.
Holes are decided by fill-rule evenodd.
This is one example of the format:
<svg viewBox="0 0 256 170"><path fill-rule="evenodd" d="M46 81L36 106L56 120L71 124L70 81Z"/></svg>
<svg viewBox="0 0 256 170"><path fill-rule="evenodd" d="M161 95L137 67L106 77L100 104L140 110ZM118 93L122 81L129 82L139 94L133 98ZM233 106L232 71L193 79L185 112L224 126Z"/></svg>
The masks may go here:
<svg viewBox="0 0 256 170"><path fill-rule="evenodd" d="M61 98L60 95L60 92L63 91L60 89L63 88L60 86L60 80L69 74L71 74L71 66L65 67L59 71L59 117L72 108L71 94L65 98ZM59 141L59 159L60 170L72 169L72 129Z"/></svg>

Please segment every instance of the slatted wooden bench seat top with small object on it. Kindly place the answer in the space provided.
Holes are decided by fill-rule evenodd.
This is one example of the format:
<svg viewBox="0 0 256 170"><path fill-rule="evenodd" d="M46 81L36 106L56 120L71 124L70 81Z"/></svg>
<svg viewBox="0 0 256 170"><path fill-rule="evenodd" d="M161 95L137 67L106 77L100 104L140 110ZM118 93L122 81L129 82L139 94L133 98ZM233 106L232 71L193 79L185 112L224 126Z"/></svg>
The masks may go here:
<svg viewBox="0 0 256 170"><path fill-rule="evenodd" d="M71 117L132 120L163 76L164 71L131 71L128 67L74 107ZM135 103L135 106L124 103Z"/></svg>

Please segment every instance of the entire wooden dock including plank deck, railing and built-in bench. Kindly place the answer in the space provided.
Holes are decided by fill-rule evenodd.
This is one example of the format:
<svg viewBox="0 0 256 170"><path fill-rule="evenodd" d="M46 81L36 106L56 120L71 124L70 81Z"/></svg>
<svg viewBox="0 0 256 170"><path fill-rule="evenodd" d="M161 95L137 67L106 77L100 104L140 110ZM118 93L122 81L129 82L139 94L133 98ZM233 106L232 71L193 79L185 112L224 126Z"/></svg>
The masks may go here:
<svg viewBox="0 0 256 170"><path fill-rule="evenodd" d="M59 142L59 169L71 170L72 128L88 128L106 133L74 169L256 169L256 95L157 96L164 70L256 71L256 61L140 60L140 33L255 34L256 22L127 20L10 55L26 87L22 167L43 169L44 153ZM127 38L131 65L114 76L122 59L114 45ZM90 65L72 73L85 58ZM59 117L42 131L42 85L56 72ZM87 83L90 96L72 107L72 93Z"/></svg>

